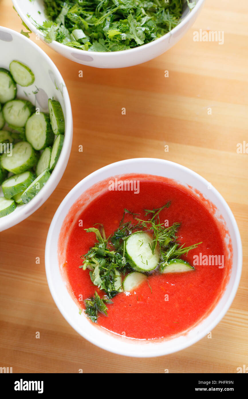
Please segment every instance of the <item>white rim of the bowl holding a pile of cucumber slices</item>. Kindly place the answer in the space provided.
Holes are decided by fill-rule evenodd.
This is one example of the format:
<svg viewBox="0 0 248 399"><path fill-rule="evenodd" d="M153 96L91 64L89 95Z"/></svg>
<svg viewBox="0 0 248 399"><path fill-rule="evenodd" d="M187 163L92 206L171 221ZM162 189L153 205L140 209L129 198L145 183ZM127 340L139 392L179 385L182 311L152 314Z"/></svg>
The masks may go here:
<svg viewBox="0 0 248 399"><path fill-rule="evenodd" d="M17 36L21 40L26 41L27 43L29 43L28 45L30 45L30 47L35 48L38 51L38 53L40 53L41 57L43 57L43 59L47 61L49 68L51 68L51 70L55 73L55 76L59 78L60 83L62 83L63 85L62 96L64 99L65 122L66 122L66 127L64 132L64 143L62 146L61 154L59 156L59 160L49 180L47 181L45 186L40 190L40 192L37 193L37 195L29 203L21 206L21 209L20 211L18 211L17 214L15 214L14 211L9 215L0 219L0 231L3 231L8 229L9 227L12 227L20 223L21 221L29 217L32 213L34 213L51 196L51 194L59 184L59 181L61 180L62 175L64 174L70 156L70 150L72 146L73 122L72 122L72 109L71 109L68 90L64 83L64 79L62 78L62 75L59 72L59 69L56 67L55 63L51 60L51 58L45 53L43 49L41 49L32 40L26 38L25 36L16 32L15 30L0 26L0 31L9 33L12 36ZM43 196L42 200L41 196Z"/></svg>

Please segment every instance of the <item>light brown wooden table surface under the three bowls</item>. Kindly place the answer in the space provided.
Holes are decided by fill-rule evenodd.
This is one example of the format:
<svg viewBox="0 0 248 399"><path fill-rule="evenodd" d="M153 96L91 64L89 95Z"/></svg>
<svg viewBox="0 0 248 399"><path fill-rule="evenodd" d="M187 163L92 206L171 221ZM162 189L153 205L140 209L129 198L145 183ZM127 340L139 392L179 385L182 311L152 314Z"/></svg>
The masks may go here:
<svg viewBox="0 0 248 399"><path fill-rule="evenodd" d="M0 25L21 31L10 0L0 0ZM64 78L74 137L68 166L51 197L0 233L0 366L12 367L13 373L236 373L248 366L248 154L236 152L238 143L248 142L247 26L247 0L235 7L232 0L207 0L172 49L125 69L74 63L31 35ZM193 41L199 29L224 31L224 44ZM94 170L136 157L178 162L211 182L234 213L244 255L238 292L212 338L152 359L117 356L84 340L55 306L45 275L47 232L64 196Z"/></svg>

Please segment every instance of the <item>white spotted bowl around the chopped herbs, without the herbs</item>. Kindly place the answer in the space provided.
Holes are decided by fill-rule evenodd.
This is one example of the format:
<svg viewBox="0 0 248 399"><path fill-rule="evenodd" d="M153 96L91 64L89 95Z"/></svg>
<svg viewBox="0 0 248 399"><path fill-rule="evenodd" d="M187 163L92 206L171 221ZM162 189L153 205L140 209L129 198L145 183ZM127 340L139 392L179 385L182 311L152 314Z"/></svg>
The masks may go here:
<svg viewBox="0 0 248 399"><path fill-rule="evenodd" d="M186 34L187 30L189 30L189 28L195 22L195 19L199 14L201 6L205 0L195 1L195 7L189 11L185 0L181 22L169 33L155 41L135 47L133 49L113 52L95 52L74 49L72 47L58 43L57 41L53 41L48 45L64 57L80 64L89 65L92 67L123 68L130 67L132 65L138 65L158 57L158 55L170 49L184 36L184 34ZM34 23L35 21L37 24L42 25L43 22L47 20L43 0L12 0L12 2L21 19L25 22L25 24L27 24L29 29L32 32L35 32L35 34L40 35L41 40L43 40L41 32L36 28Z"/></svg>

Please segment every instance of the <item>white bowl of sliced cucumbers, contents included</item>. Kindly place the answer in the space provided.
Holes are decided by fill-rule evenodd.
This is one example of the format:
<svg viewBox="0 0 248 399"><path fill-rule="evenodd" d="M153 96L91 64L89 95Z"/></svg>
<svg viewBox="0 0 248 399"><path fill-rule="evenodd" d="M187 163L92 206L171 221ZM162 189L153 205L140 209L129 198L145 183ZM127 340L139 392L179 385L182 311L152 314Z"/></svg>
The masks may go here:
<svg viewBox="0 0 248 399"><path fill-rule="evenodd" d="M36 211L64 173L72 111L58 69L35 43L0 27L0 231Z"/></svg>

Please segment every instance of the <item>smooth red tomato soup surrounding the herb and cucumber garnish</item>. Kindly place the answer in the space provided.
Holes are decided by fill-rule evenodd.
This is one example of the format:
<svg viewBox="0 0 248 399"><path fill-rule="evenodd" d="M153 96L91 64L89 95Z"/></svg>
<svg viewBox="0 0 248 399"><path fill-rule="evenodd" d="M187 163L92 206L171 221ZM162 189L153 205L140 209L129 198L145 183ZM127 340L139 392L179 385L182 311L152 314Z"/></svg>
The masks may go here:
<svg viewBox="0 0 248 399"><path fill-rule="evenodd" d="M176 184L165 181L140 180L139 194L133 191L109 191L93 199L82 211L70 229L66 246L64 269L75 299L90 298L97 291L89 271L80 269L81 255L94 246L96 236L84 229L102 223L106 237L118 228L124 208L140 213L147 220L144 209L160 208L171 201L171 205L160 213L161 221L169 226L180 222L177 236L181 244L189 246L202 241L196 249L183 255L182 259L194 265L189 273L154 273L131 293L120 292L108 304L108 316L100 314L98 325L111 332L138 339L168 338L182 333L204 318L216 304L223 291L227 267L223 265L195 265L194 255L225 255L221 229L211 212L197 197ZM130 215L125 221L133 221ZM96 226L97 227L97 226ZM205 258L206 259L206 258ZM193 263L194 262L194 263ZM204 263L204 262L203 262ZM221 267L219 267L221 266ZM78 307L84 309L83 302ZM84 315L82 314L82 317Z"/></svg>

